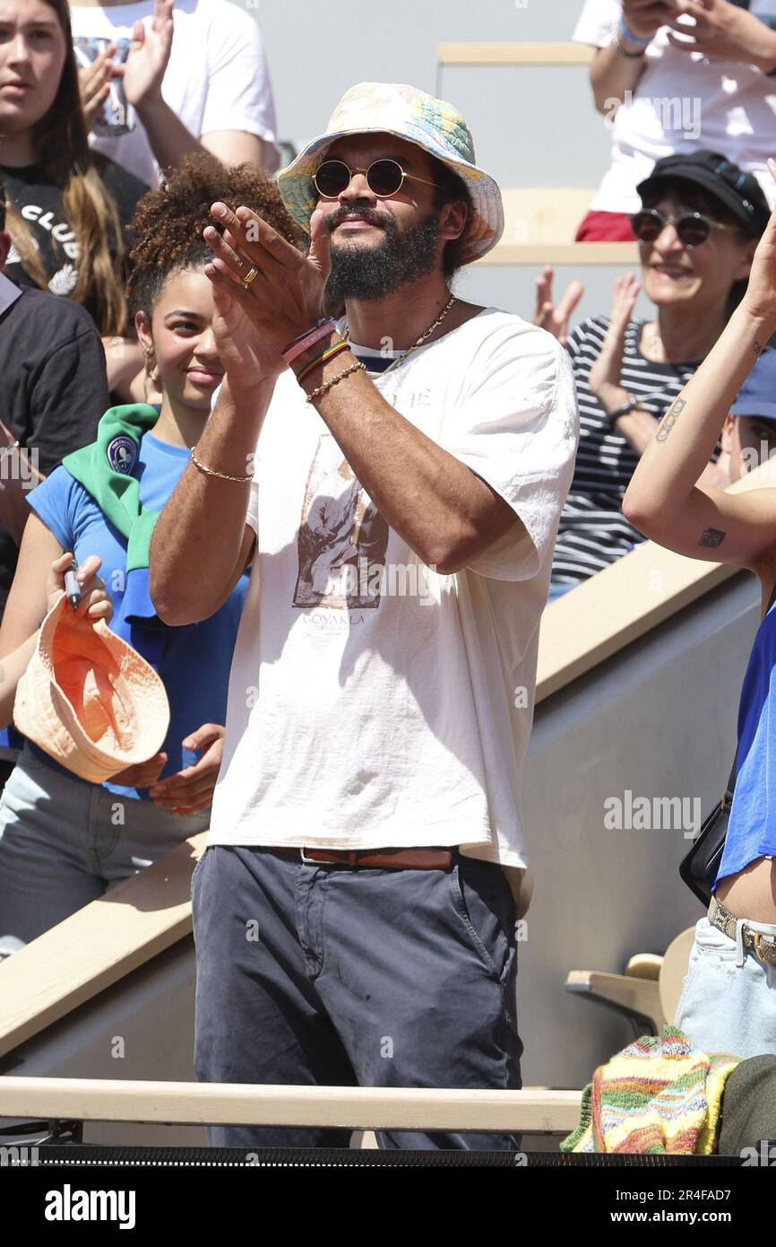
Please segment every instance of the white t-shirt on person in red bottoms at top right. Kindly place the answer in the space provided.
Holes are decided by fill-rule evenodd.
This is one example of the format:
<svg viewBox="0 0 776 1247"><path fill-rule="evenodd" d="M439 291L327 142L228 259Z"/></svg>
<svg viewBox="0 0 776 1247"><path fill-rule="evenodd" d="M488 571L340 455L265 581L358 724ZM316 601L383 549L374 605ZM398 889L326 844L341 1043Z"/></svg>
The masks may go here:
<svg viewBox="0 0 776 1247"><path fill-rule="evenodd" d="M574 41L605 47L622 11L618 0L587 0ZM774 17L776 0L751 0L750 12ZM721 152L754 173L774 207L776 182L766 160L776 147L776 77L767 77L754 65L715 61L673 47L669 29L663 26L653 39L635 94L617 108L612 167L592 209L638 212L635 188L649 177L654 162L700 147ZM688 24L688 31L691 29ZM609 117L614 110L615 101Z"/></svg>

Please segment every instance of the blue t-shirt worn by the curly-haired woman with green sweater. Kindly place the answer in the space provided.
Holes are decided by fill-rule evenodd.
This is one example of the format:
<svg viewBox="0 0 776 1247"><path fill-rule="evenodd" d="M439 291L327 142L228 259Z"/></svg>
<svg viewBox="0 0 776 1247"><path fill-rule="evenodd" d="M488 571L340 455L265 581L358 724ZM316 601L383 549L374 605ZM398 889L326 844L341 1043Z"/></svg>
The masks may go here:
<svg viewBox="0 0 776 1247"><path fill-rule="evenodd" d="M161 511L173 493L189 451L159 441L152 433L141 440L135 475L140 478L140 500L143 506ZM248 575L240 576L228 601L208 620L183 627L167 627L154 620L149 630L141 622L122 617L126 584L126 539L100 510L91 494L65 468L51 475L29 494L29 503L65 550L72 550L82 562L90 554L102 559L98 575L105 581L113 604L111 628L158 671L169 700L169 732L162 746L168 754L161 778L191 766L201 753L184 749L181 742L203 723L224 723L229 668L237 640ZM194 570L192 569L193 574ZM36 747L32 746L35 749ZM52 767L59 763L36 749ZM64 771L62 767L59 769ZM65 772L71 778L70 771ZM147 789L122 788L107 782L106 788L126 797L148 797Z"/></svg>

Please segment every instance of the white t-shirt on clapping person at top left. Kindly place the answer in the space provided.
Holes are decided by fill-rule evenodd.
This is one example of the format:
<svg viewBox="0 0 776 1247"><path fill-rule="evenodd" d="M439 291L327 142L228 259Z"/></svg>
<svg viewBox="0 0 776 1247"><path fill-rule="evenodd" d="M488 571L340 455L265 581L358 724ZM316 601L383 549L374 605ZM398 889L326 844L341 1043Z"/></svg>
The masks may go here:
<svg viewBox="0 0 776 1247"><path fill-rule="evenodd" d="M132 37L141 20L151 26L153 0L95 9L71 4L76 60L93 60L102 44ZM86 41L86 42L83 42ZM162 96L194 138L217 130L242 130L274 143L275 107L254 19L229 0L176 0L169 64ZM127 106L128 133L91 136L90 142L148 186L159 167L135 108Z"/></svg>

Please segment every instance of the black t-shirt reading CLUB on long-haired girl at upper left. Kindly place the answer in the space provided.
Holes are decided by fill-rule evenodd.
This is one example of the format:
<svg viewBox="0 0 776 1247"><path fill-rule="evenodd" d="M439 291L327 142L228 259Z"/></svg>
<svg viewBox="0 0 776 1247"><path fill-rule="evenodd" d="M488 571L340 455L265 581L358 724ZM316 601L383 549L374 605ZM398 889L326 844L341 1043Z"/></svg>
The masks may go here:
<svg viewBox="0 0 776 1247"><path fill-rule="evenodd" d="M148 186L105 156L96 153L95 163L106 188L116 201L123 248L127 252L132 243L126 227L135 214L137 201L146 193ZM5 182L9 201L30 228L49 277L50 292L72 294L78 281L80 247L72 224L65 216L61 188L51 181L40 165L27 165L24 168L0 165L0 180ZM108 231L108 247L116 268L118 259L113 229ZM35 287L32 278L21 267L15 247L11 247L5 271L19 286ZM96 315L97 304L93 296L87 296L83 307L90 315Z"/></svg>

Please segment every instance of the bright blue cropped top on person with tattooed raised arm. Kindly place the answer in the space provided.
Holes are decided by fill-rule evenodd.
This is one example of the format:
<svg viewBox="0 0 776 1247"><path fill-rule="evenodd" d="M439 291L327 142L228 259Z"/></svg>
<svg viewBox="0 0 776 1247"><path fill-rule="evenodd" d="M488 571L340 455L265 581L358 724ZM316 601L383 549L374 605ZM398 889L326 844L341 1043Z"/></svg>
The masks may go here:
<svg viewBox="0 0 776 1247"><path fill-rule="evenodd" d="M741 686L736 786L716 882L776 857L776 604L762 620Z"/></svg>

